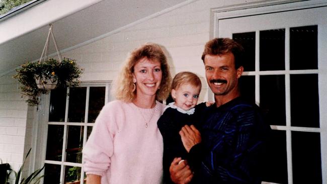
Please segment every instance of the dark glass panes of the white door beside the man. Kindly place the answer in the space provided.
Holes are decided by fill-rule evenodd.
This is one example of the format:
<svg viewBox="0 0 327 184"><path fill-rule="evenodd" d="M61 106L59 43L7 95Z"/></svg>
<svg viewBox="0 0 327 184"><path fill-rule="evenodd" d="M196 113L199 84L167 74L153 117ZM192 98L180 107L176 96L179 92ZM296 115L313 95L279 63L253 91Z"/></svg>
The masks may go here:
<svg viewBox="0 0 327 184"><path fill-rule="evenodd" d="M255 32L236 33L233 39L243 44L247 50L247 65L255 64ZM286 130L286 89L289 83L290 125L292 145L293 182L321 183L320 135L318 106L317 69L317 26L303 26L289 29L290 62L289 68L296 74L285 72L285 29L259 31L259 96L260 107L274 129L269 146L269 159L265 181L287 183ZM304 51L303 45L310 45ZM250 53L249 53L250 52ZM253 52L253 53L251 53ZM299 57L299 53L306 53ZM307 63L307 64L306 64ZM293 69L292 69L293 68ZM255 71L245 66L245 71ZM303 70L303 71L301 71ZM267 71L261 73L260 71ZM275 74L277 71L279 74ZM241 90L244 96L254 100L255 75L249 73L241 77ZM305 86L303 84L305 83ZM251 87L249 87L251 86ZM305 88L305 89L304 89ZM303 97L310 97L304 100ZM310 108L304 108L310 107ZM289 123L288 123L289 124ZM280 127L278 127L280 126ZM294 129L293 129L294 127ZM296 130L301 127L302 130ZM304 148L304 149L303 149ZM304 159L304 158L314 159ZM308 169L310 168L310 169ZM274 174L271 174L274 173Z"/></svg>

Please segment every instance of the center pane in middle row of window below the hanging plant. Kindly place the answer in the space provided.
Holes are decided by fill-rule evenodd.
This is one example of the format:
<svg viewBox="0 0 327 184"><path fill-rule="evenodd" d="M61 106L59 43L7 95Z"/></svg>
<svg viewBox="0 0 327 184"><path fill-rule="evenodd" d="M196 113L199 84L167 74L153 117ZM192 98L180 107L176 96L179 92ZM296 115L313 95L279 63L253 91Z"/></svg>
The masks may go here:
<svg viewBox="0 0 327 184"><path fill-rule="evenodd" d="M81 163L84 127L68 126L67 131L66 161Z"/></svg>

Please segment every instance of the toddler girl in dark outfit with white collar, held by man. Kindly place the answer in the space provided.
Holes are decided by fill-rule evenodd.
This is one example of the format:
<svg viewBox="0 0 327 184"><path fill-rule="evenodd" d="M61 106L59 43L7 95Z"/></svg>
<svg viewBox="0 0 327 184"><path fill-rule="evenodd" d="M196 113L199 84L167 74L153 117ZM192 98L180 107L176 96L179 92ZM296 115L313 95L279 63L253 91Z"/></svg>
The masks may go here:
<svg viewBox="0 0 327 184"><path fill-rule="evenodd" d="M169 167L174 158L181 157L187 160L188 152L184 148L179 131L185 125L194 125L198 129L201 112L212 104L207 102L197 105L200 91L201 80L192 72L180 72L173 79L171 95L174 102L165 108L157 122L163 138L164 183L173 183Z"/></svg>

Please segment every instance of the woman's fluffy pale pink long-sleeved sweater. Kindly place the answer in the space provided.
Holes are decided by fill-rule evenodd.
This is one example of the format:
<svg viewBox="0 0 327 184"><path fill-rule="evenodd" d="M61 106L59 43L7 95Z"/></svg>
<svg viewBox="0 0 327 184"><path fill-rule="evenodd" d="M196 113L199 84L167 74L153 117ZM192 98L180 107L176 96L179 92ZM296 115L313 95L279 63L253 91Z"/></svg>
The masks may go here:
<svg viewBox="0 0 327 184"><path fill-rule="evenodd" d="M163 143L156 123L164 107L122 101L104 106L83 148L84 171L101 175L102 184L161 183Z"/></svg>

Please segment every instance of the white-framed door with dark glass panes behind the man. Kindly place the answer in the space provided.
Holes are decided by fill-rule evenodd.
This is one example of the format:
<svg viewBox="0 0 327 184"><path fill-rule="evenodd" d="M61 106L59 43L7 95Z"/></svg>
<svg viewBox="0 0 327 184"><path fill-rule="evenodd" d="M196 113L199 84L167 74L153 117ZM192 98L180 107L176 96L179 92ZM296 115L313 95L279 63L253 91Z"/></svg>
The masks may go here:
<svg viewBox="0 0 327 184"><path fill-rule="evenodd" d="M326 183L327 7L261 10L217 13L215 34L246 49L241 92L273 129L265 181Z"/></svg>

